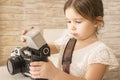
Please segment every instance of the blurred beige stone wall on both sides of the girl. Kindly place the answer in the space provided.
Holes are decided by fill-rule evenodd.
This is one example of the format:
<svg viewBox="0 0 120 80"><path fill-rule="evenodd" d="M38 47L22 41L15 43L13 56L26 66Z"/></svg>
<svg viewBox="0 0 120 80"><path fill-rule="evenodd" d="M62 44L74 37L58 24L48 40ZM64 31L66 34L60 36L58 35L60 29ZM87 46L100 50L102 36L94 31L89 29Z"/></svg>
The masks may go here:
<svg viewBox="0 0 120 80"><path fill-rule="evenodd" d="M0 0L0 66L6 65L10 52L16 46L23 45L20 42L22 30L35 26L44 33L44 31L47 32L46 29L66 28L63 13L65 1ZM105 27L101 30L99 37L114 50L120 62L120 0L103 0L103 3ZM48 31L45 37L51 36L55 39L58 34L54 31ZM114 72L120 74L120 69Z"/></svg>

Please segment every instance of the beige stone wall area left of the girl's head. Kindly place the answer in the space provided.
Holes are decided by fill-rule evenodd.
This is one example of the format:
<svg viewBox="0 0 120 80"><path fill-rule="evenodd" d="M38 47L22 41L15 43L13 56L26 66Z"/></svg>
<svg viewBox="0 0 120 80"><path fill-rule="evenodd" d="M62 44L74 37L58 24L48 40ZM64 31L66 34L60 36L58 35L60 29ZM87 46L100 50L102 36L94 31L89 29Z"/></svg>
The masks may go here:
<svg viewBox="0 0 120 80"><path fill-rule="evenodd" d="M0 65L20 42L22 30L34 26L64 28L64 0L0 0Z"/></svg>

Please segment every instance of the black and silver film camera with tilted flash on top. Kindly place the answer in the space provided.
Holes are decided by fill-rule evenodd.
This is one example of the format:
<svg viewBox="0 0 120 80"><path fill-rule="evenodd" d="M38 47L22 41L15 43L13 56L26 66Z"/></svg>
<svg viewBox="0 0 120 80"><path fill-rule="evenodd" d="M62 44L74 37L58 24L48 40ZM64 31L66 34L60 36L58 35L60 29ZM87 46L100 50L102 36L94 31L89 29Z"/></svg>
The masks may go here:
<svg viewBox="0 0 120 80"><path fill-rule="evenodd" d="M43 36L36 29L30 30L23 36L26 39L26 47L16 47L7 61L8 72L12 75L22 73L30 76L29 64L31 61L48 61L50 48ZM47 79L40 79L47 80Z"/></svg>

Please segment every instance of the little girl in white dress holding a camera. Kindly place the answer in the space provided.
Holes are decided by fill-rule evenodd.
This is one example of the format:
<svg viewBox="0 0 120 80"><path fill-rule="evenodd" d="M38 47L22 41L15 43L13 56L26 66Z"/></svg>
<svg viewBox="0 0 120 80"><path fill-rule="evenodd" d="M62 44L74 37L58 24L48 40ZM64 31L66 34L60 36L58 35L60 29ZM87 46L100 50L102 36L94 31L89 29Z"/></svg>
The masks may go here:
<svg viewBox="0 0 120 80"><path fill-rule="evenodd" d="M30 64L32 77L48 80L102 80L108 69L118 66L112 50L97 38L98 29L104 24L102 0L67 0L64 13L68 34L48 44L51 53L58 53L70 38L77 40L70 74L64 72L62 67L56 68L50 61L39 61ZM25 40L22 38L22 41Z"/></svg>

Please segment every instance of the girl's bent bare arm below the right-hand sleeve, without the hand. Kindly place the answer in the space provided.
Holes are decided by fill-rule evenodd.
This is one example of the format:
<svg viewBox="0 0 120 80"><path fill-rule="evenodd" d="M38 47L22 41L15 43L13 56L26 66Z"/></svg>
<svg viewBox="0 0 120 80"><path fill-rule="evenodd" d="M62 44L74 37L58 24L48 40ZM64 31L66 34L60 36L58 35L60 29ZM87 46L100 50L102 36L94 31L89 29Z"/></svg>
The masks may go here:
<svg viewBox="0 0 120 80"><path fill-rule="evenodd" d="M102 80L106 69L107 66L104 64L91 64L83 78L75 77L59 70L53 80Z"/></svg>

